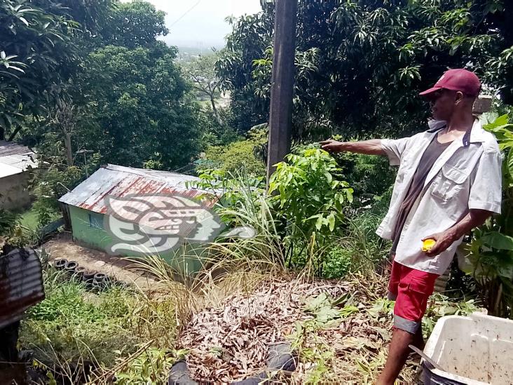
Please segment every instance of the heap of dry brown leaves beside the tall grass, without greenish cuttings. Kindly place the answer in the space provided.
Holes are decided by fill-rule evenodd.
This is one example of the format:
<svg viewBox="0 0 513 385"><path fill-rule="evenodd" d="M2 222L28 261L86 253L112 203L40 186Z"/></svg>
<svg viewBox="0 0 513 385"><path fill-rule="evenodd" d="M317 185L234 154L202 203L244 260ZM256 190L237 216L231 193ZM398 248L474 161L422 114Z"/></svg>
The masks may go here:
<svg viewBox="0 0 513 385"><path fill-rule="evenodd" d="M196 381L219 384L247 377L266 366L269 344L285 341L302 311L304 299L327 292L337 297L348 285L282 281L264 283L251 295L231 295L220 306L193 316L180 340Z"/></svg>

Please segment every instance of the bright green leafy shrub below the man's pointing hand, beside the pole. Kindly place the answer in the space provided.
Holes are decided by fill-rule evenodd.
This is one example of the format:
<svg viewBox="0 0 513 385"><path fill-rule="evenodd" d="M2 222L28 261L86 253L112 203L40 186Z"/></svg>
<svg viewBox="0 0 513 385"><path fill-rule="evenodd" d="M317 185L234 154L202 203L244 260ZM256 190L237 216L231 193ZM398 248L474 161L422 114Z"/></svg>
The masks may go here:
<svg viewBox="0 0 513 385"><path fill-rule="evenodd" d="M301 255L307 245L322 250L330 237L340 234L343 209L353 201L353 189L335 178L338 171L334 158L321 149L289 154L286 162L276 165L268 193L282 219L288 260L294 252ZM315 264L322 270L319 262Z"/></svg>

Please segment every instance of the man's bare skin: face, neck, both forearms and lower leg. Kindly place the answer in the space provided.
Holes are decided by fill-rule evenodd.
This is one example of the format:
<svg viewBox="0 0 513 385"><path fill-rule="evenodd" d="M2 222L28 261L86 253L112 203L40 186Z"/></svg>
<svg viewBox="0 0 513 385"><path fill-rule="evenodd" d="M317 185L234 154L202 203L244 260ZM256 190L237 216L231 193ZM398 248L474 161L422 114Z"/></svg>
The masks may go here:
<svg viewBox="0 0 513 385"><path fill-rule="evenodd" d="M475 97L464 95L460 91L437 90L428 94L430 100L431 112L434 119L446 121L447 126L438 134L438 140L441 143L453 142L453 140L462 140L463 135L472 128L474 116L472 115L472 106ZM386 155L381 147L381 140L364 140L362 142L337 142L336 140L325 140L320 142L321 148L330 152L355 152L368 155ZM486 219L491 216L487 210L470 210L460 222L456 223L450 229L440 231L437 234L425 234L425 239L435 239L436 244L427 251L427 255L436 256L444 252L449 246L459 238L467 234L474 227L484 224ZM424 347L422 330L413 335L405 330L393 330L392 341L388 351L388 359L383 372L376 384L392 385L404 367L406 359L410 353L409 345L413 344L420 350Z"/></svg>

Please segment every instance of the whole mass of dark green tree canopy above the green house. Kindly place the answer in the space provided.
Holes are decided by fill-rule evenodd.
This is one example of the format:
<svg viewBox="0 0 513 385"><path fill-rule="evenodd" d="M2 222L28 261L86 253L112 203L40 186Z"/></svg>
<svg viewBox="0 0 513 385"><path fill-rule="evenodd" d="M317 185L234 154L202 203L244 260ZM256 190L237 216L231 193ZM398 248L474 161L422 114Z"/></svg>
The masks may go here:
<svg viewBox="0 0 513 385"><path fill-rule="evenodd" d="M139 0L14 3L1 3L19 28L0 62L0 101L11 103L0 118L19 117L4 126L8 139L20 130L50 163L67 166L83 161L83 149L101 163L167 169L198 154L199 107L175 64L177 48L157 40L167 34L163 12ZM48 39L38 32L45 21Z"/></svg>

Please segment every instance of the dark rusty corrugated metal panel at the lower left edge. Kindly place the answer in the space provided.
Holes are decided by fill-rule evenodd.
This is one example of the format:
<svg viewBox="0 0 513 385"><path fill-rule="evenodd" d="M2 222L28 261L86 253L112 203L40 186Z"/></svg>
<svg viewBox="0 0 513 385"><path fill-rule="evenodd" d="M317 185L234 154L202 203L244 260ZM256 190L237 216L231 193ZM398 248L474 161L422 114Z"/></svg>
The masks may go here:
<svg viewBox="0 0 513 385"><path fill-rule="evenodd" d="M0 257L0 328L20 320L45 297L41 261L32 249Z"/></svg>

